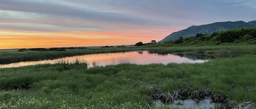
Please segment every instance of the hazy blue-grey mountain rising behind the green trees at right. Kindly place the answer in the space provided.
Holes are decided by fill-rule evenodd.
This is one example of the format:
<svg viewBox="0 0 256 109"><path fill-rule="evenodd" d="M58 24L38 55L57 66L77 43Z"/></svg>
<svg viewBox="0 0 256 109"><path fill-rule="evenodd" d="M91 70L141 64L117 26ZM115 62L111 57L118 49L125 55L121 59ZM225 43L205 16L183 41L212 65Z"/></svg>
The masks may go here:
<svg viewBox="0 0 256 109"><path fill-rule="evenodd" d="M236 21L236 22L216 22L211 24L204 24L204 25L192 25L187 29L183 29L177 32L174 32L168 36L166 36L163 40L159 42L171 41L178 39L178 37L189 37L195 36L198 33L201 34L212 34L216 31L223 31L223 30L230 30L234 28L246 28L246 27L256 27L256 21L251 22L243 22L243 21Z"/></svg>

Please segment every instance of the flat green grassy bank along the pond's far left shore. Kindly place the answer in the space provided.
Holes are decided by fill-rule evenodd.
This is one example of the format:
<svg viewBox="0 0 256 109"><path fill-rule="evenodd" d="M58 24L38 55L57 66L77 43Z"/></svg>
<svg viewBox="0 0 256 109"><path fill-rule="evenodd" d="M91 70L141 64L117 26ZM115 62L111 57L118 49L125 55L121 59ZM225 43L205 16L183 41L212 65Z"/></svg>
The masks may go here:
<svg viewBox="0 0 256 109"><path fill-rule="evenodd" d="M97 53L115 53L126 52L129 50L143 50L141 47L88 47L88 48L72 48L65 50L29 50L29 49L3 49L0 50L0 64L20 62L20 61L34 61L44 59L56 59L65 56L97 54Z"/></svg>

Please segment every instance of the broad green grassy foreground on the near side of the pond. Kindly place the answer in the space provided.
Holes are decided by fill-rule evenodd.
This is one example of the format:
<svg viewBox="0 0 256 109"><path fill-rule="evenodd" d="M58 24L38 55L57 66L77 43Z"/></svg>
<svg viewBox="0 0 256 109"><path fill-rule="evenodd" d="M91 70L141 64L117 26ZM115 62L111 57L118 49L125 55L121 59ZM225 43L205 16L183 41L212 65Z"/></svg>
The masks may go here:
<svg viewBox="0 0 256 109"><path fill-rule="evenodd" d="M256 102L256 55L206 63L0 69L0 108L148 108L152 89L213 91Z"/></svg>

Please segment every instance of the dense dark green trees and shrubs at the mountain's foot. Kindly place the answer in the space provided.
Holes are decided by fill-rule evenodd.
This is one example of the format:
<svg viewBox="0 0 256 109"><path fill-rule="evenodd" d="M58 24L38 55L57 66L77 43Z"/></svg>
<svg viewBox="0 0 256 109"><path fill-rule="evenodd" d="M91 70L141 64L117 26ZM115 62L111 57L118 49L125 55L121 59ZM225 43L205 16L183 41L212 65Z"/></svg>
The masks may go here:
<svg viewBox="0 0 256 109"><path fill-rule="evenodd" d="M190 37L179 37L165 43L173 44L221 44L242 43L256 44L256 28L236 28L227 31L218 31L213 34L197 34Z"/></svg>

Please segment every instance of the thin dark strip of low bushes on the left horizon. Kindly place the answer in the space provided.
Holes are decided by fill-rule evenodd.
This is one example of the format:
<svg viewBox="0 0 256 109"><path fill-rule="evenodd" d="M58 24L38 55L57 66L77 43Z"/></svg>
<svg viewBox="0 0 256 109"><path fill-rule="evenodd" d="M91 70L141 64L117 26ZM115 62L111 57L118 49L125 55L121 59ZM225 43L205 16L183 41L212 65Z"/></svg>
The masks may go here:
<svg viewBox="0 0 256 109"><path fill-rule="evenodd" d="M33 50L33 51L65 51L66 49L80 49L86 47L61 47L61 48L22 48L19 49L19 52L23 52L23 50Z"/></svg>

